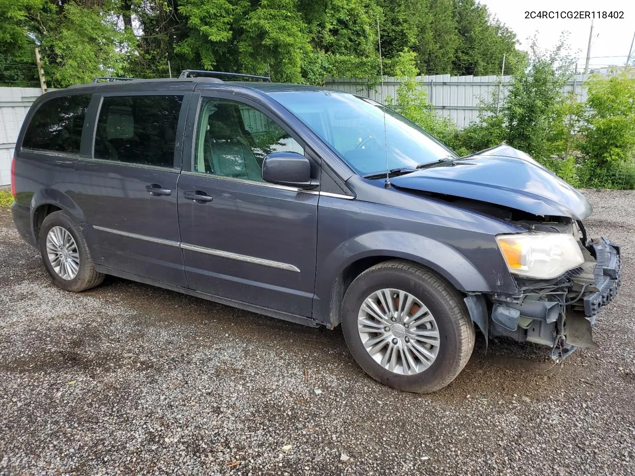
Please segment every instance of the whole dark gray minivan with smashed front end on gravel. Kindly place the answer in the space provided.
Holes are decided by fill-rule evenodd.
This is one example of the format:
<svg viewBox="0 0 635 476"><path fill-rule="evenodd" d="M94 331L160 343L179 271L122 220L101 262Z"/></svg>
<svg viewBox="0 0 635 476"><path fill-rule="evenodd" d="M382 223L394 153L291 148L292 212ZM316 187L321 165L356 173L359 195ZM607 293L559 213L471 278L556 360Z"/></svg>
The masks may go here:
<svg viewBox="0 0 635 476"><path fill-rule="evenodd" d="M620 248L587 237L589 202L531 157L457 157L349 93L194 74L32 105L11 211L58 286L109 274L341 324L364 371L410 392L448 385L476 329L557 362L594 346Z"/></svg>

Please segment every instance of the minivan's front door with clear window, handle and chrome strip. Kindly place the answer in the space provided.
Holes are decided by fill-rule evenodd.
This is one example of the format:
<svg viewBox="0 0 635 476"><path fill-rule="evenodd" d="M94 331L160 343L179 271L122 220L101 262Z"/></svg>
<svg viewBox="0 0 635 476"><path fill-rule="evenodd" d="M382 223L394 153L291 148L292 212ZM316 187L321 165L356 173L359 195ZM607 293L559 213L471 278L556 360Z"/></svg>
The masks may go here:
<svg viewBox="0 0 635 476"><path fill-rule="evenodd" d="M262 180L265 154L302 145L255 105L203 96L197 107L178 182L189 287L310 317L319 195Z"/></svg>

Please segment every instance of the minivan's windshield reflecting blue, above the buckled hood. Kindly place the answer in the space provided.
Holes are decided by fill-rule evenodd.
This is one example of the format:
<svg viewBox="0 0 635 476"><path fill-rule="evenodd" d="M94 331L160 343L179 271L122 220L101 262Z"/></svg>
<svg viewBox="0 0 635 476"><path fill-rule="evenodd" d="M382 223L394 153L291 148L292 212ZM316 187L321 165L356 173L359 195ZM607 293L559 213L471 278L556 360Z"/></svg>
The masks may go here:
<svg viewBox="0 0 635 476"><path fill-rule="evenodd" d="M456 157L416 124L370 99L319 90L276 92L271 96L337 150L359 175L415 169Z"/></svg>

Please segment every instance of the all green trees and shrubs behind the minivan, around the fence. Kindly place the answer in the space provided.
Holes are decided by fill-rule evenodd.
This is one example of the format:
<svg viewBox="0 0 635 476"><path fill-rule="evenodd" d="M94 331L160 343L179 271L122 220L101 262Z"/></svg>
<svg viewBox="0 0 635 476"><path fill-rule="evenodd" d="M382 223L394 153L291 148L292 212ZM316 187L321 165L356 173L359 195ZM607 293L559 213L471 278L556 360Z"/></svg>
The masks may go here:
<svg viewBox="0 0 635 476"><path fill-rule="evenodd" d="M94 76L161 77L218 69L321 84L401 78L389 104L460 154L500 142L577 187L635 188L635 74L587 81L584 103L565 42L552 51L516 36L476 0L0 0L0 85L35 86L34 48L49 86ZM512 74L511 88L458 130L418 88L418 74Z"/></svg>

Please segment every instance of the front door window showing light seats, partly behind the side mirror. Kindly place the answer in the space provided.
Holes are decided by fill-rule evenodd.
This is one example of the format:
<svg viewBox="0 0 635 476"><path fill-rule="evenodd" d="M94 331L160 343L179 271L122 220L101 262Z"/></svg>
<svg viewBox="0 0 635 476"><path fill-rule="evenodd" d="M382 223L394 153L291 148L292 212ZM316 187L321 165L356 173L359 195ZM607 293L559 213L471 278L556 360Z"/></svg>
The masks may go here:
<svg viewBox="0 0 635 476"><path fill-rule="evenodd" d="M269 116L244 103L203 98L194 169L262 182L262 162L271 152L304 149Z"/></svg>

